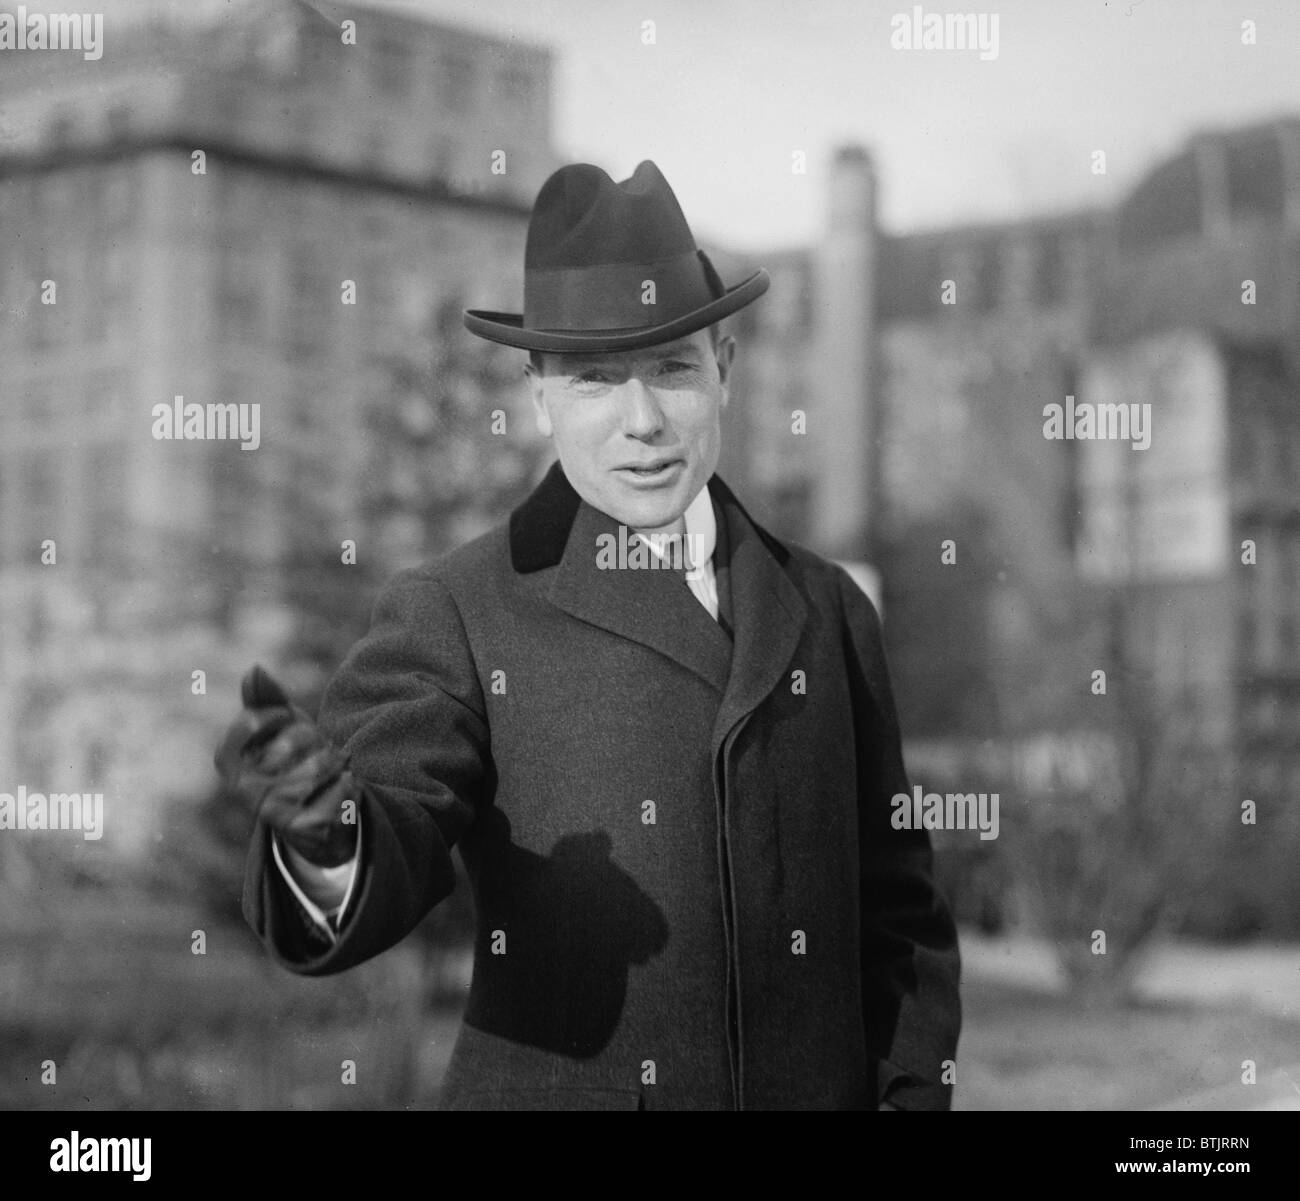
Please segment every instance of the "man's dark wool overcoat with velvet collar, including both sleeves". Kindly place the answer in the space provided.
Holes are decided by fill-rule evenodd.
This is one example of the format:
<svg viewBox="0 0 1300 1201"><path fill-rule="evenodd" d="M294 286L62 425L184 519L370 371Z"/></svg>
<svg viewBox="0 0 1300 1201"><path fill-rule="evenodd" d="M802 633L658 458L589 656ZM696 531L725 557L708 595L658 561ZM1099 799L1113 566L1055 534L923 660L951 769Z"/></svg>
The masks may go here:
<svg viewBox="0 0 1300 1201"><path fill-rule="evenodd" d="M926 833L889 821L876 611L708 490L723 623L680 572L602 569L619 525L559 464L386 585L320 714L360 799L337 944L254 837L244 912L307 975L406 936L459 846L478 927L446 1107L948 1105L957 941Z"/></svg>

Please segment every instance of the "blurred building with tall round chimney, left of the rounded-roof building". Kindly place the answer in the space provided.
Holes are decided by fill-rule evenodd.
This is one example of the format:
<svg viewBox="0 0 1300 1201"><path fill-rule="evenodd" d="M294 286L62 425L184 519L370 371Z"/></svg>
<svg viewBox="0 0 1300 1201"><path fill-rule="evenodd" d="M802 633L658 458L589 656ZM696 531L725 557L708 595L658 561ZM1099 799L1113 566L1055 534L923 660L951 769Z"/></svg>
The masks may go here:
<svg viewBox="0 0 1300 1201"><path fill-rule="evenodd" d="M867 152L829 170L823 244L754 259L772 289L733 325L740 450L724 467L784 536L884 568L905 728L991 736L1071 669L1035 669L1026 691L998 667L1067 620L1076 481L1041 411L1084 359L1105 217L892 235ZM946 539L959 571L940 562Z"/></svg>

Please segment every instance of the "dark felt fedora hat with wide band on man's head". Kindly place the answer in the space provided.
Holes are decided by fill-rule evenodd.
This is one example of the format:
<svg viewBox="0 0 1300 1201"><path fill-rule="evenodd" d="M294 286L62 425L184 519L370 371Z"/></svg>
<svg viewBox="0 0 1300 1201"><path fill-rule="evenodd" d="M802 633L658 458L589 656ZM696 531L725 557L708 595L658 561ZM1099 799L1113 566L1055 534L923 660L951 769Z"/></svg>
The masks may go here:
<svg viewBox="0 0 1300 1201"><path fill-rule="evenodd" d="M524 312L467 309L491 342L537 351L640 350L672 342L767 291L767 272L724 287L649 159L615 183L589 162L562 166L533 204Z"/></svg>

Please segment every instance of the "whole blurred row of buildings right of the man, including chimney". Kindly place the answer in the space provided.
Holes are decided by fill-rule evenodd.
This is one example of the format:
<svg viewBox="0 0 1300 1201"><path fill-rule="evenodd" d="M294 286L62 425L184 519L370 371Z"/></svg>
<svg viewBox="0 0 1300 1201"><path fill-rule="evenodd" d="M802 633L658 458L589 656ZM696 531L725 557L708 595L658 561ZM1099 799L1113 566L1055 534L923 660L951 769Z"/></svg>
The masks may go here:
<svg viewBox="0 0 1300 1201"><path fill-rule="evenodd" d="M1110 667L1243 795L1300 794L1300 121L1197 135L1114 212L905 237L863 151L829 169L824 243L737 326L732 471L884 569L904 728L1041 750ZM1149 406L1149 447L1045 438L1071 396Z"/></svg>

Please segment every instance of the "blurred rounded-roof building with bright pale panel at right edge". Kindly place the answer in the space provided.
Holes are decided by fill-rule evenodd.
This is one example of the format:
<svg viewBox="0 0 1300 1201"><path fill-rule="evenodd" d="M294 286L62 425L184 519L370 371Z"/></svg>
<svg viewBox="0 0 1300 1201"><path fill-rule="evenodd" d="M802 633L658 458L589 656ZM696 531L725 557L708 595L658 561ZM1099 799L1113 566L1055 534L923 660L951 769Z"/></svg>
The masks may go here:
<svg viewBox="0 0 1300 1201"><path fill-rule="evenodd" d="M1086 363L1156 439L1089 446L1080 567L1128 585L1161 690L1200 699L1261 805L1300 797L1297 278L1300 120L1202 133L1115 213Z"/></svg>

